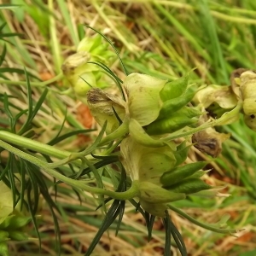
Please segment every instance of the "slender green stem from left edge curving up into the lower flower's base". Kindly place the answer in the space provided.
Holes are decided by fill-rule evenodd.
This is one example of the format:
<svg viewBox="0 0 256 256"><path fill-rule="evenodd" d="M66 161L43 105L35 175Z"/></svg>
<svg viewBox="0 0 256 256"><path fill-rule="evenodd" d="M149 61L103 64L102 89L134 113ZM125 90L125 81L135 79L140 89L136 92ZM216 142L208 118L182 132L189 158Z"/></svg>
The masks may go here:
<svg viewBox="0 0 256 256"><path fill-rule="evenodd" d="M44 162L43 160L38 159L35 156L32 156L30 154L26 154L25 152L21 151L20 149L17 149L8 143L5 143L0 140L0 147L5 148L10 153L13 153L20 158L27 160L31 162L33 165L38 166L42 168L45 172L49 173L52 177L55 177L59 180L61 180L64 183L67 183L68 185L75 187L76 189L84 189L87 192L98 194L98 195L108 195L112 197L113 199L117 200L130 200L134 197L137 197L139 195L139 185L138 182L135 181L131 184L131 188L128 189L125 192L115 192L107 189L100 189L96 187L91 187L89 185L86 185L86 183L91 181L86 180L74 180L70 177L66 177L62 175L59 172L56 172L54 169L49 168L48 163Z"/></svg>

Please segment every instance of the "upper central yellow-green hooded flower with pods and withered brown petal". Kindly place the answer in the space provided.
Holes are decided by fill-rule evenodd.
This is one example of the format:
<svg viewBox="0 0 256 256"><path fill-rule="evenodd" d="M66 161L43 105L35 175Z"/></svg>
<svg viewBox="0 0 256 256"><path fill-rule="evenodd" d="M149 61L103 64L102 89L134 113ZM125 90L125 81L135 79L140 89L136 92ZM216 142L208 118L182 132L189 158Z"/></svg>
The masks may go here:
<svg viewBox="0 0 256 256"><path fill-rule="evenodd" d="M197 121L195 117L201 115L201 112L195 108L186 107L187 103L195 95L195 92L187 88L188 81L184 79L177 80L168 82L167 80L156 79L139 73L131 73L125 78L122 86L125 93L125 102L119 98L118 101L122 102L123 110L117 112L121 121L127 125L127 131L130 131L131 136L138 143L148 146L154 145L154 147L165 146L166 143L160 141L157 137L148 137L148 134L163 135L177 131L186 125L195 124ZM172 91L172 87L176 88L177 84L183 90ZM118 119L114 114L117 98L113 100L109 95L106 95L104 97L105 103L103 103L103 100L100 103L91 102L91 99L100 97L96 96L96 94L103 95L106 93L102 90L92 89L87 95L91 111L103 113L100 118L96 117L97 122L102 125L102 120L107 119L108 122L111 121L113 124L117 124ZM174 96L174 98L168 100L168 96ZM108 110L103 110L103 105ZM112 116L111 120L109 119L109 114ZM116 127L113 124L108 125ZM108 131L113 130L108 129Z"/></svg>

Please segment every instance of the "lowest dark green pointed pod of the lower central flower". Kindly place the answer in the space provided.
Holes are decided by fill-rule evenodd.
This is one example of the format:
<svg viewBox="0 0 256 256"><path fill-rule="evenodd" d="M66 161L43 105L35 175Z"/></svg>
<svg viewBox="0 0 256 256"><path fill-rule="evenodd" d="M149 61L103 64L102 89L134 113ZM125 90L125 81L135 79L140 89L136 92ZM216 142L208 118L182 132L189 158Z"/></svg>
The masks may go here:
<svg viewBox="0 0 256 256"><path fill-rule="evenodd" d="M193 194L205 189L212 189L210 185L204 183L200 178L184 179L180 183L176 183L172 186L166 186L165 188L172 192L184 193L186 195Z"/></svg>

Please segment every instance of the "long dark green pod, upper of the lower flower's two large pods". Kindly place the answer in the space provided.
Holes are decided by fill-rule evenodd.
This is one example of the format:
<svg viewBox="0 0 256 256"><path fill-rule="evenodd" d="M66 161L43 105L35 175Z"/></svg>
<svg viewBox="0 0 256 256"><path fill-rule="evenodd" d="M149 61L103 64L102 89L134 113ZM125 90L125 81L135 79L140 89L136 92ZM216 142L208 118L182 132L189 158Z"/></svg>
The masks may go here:
<svg viewBox="0 0 256 256"><path fill-rule="evenodd" d="M160 182L164 186L172 186L176 183L179 183L184 178L193 175L195 172L201 170L206 165L206 162L195 162L185 166L178 166L169 172L165 172L160 177Z"/></svg>

